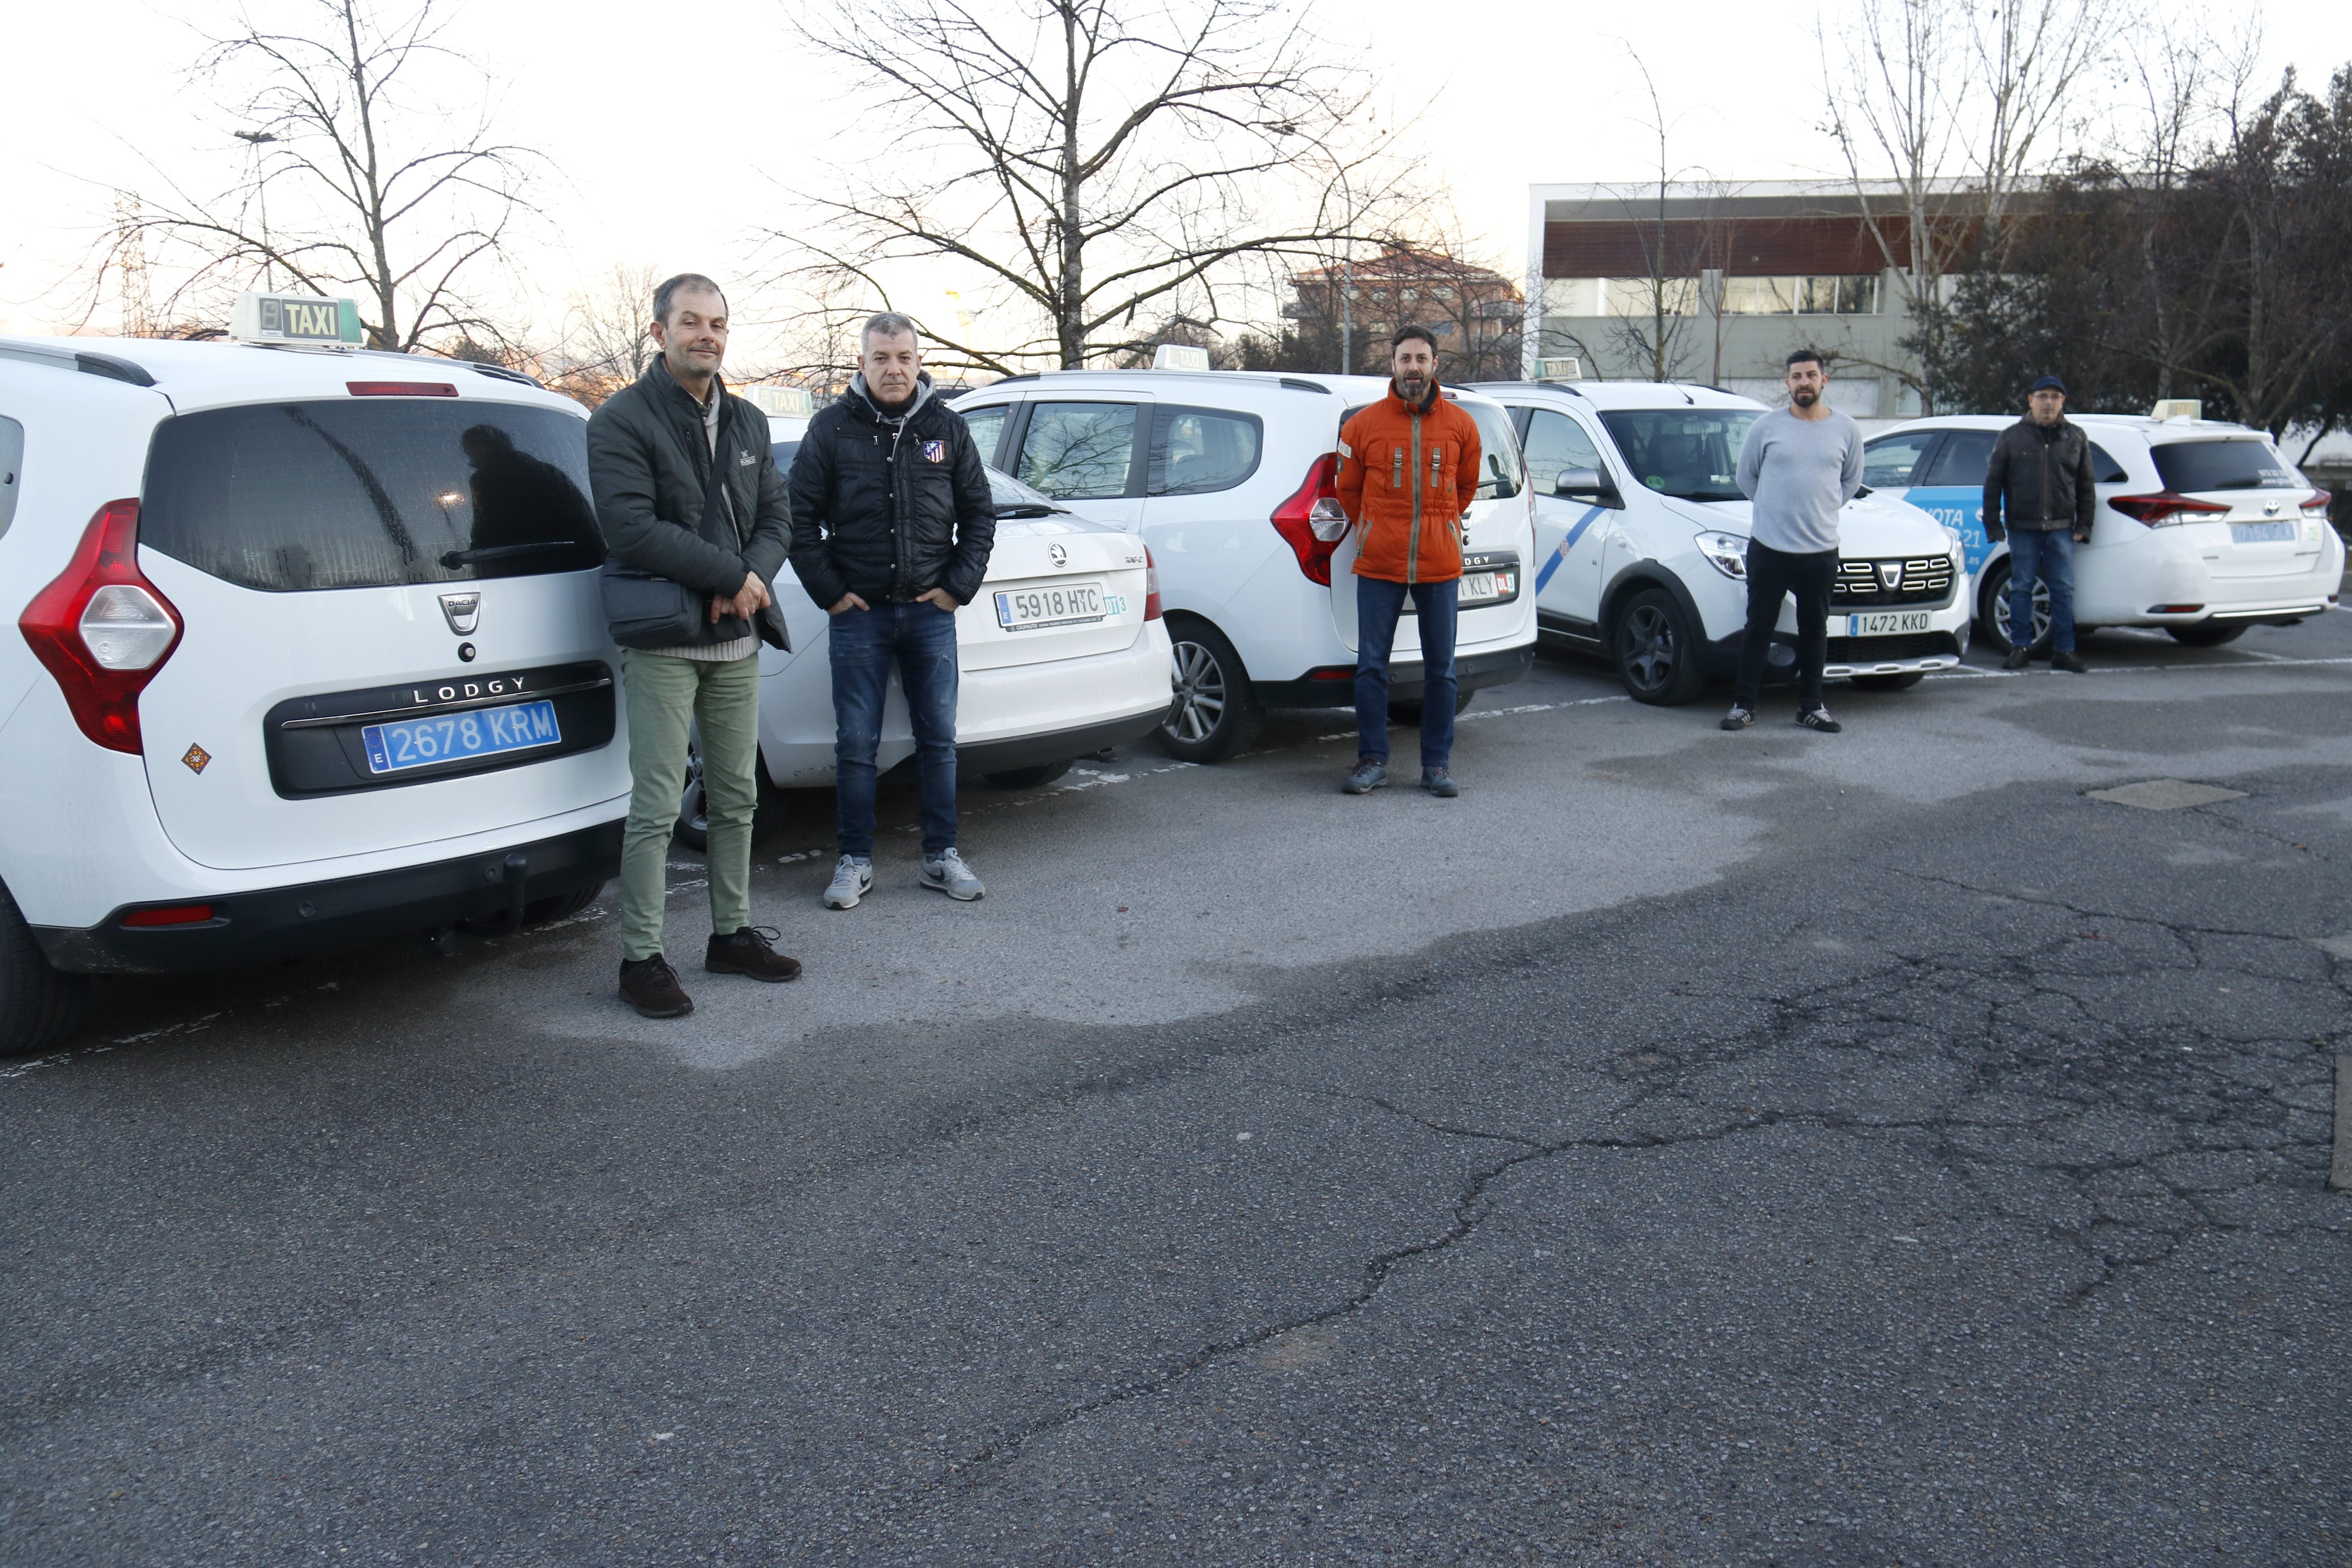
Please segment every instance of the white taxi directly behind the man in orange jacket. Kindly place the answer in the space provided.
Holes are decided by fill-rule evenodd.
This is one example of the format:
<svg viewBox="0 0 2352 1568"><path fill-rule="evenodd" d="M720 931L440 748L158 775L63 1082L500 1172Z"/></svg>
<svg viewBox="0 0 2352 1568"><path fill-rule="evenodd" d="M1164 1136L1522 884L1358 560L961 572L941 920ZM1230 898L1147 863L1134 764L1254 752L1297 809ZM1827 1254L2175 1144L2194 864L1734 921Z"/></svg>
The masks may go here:
<svg viewBox="0 0 2352 1568"><path fill-rule="evenodd" d="M955 409L993 468L1150 548L1176 649L1160 745L1218 762L1265 708L1355 705L1355 531L1322 541L1315 529L1341 517L1341 423L1385 393L1381 376L1044 371L964 393ZM1454 644L1468 703L1534 663L1524 569L1536 538L1508 414L1470 390L1444 395L1477 421L1486 463L1463 529ZM1390 668L1392 710L1418 717L1411 614Z"/></svg>

